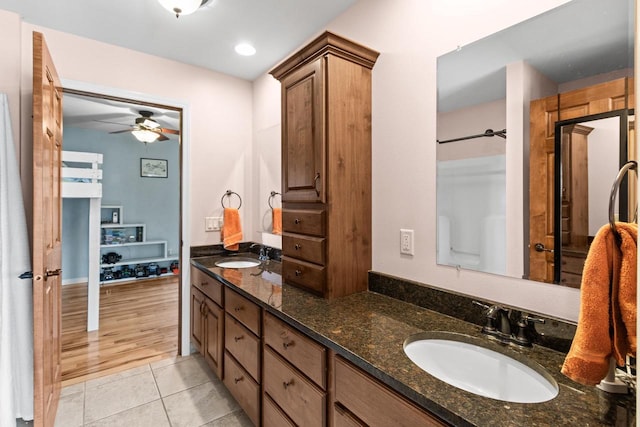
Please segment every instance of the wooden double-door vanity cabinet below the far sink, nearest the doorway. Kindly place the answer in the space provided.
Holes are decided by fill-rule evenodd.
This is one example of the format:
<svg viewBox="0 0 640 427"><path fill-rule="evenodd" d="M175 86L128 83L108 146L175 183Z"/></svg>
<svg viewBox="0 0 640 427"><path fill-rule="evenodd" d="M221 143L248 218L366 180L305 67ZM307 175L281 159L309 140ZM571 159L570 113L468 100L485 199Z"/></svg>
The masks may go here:
<svg viewBox="0 0 640 427"><path fill-rule="evenodd" d="M223 376L222 283L191 267L191 342L211 370Z"/></svg>

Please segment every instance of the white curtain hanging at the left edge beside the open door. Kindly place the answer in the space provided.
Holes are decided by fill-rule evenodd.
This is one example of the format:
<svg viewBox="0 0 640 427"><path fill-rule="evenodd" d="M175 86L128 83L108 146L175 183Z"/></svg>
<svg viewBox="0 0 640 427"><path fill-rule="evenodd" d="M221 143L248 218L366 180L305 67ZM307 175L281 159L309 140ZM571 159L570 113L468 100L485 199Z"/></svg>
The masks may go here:
<svg viewBox="0 0 640 427"><path fill-rule="evenodd" d="M9 100L0 94L0 427L33 419L33 300L29 235Z"/></svg>

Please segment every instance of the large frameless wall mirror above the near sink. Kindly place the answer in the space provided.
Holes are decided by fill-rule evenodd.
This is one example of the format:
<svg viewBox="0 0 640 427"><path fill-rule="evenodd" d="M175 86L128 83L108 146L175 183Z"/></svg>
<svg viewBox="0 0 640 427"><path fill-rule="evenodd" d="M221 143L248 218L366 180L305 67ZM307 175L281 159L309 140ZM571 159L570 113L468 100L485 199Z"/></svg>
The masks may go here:
<svg viewBox="0 0 640 427"><path fill-rule="evenodd" d="M633 0L573 0L438 58L438 264L579 286L584 260L562 273L560 252L575 252L571 238L588 248L635 156L634 16ZM556 151L556 137L584 154L570 163L570 143ZM555 159L569 163L556 173ZM572 169L572 203L588 214L571 218L570 235L562 191ZM635 209L630 192L618 196L619 219Z"/></svg>

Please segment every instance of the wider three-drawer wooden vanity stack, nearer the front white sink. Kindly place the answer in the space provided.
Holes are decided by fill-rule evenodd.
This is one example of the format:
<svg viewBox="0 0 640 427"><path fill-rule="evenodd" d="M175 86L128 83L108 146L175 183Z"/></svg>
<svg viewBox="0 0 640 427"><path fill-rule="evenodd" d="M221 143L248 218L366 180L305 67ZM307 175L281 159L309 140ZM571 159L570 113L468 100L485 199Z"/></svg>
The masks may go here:
<svg viewBox="0 0 640 427"><path fill-rule="evenodd" d="M263 425L325 426L326 348L265 313L263 355Z"/></svg>

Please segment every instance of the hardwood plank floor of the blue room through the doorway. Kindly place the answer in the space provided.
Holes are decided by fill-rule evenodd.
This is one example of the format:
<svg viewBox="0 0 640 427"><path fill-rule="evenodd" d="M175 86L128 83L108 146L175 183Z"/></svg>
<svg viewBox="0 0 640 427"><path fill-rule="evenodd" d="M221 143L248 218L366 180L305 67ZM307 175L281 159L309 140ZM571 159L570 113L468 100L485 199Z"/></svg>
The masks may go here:
<svg viewBox="0 0 640 427"><path fill-rule="evenodd" d="M62 287L62 384L178 353L177 277L100 288L100 328L87 332L87 287Z"/></svg>

